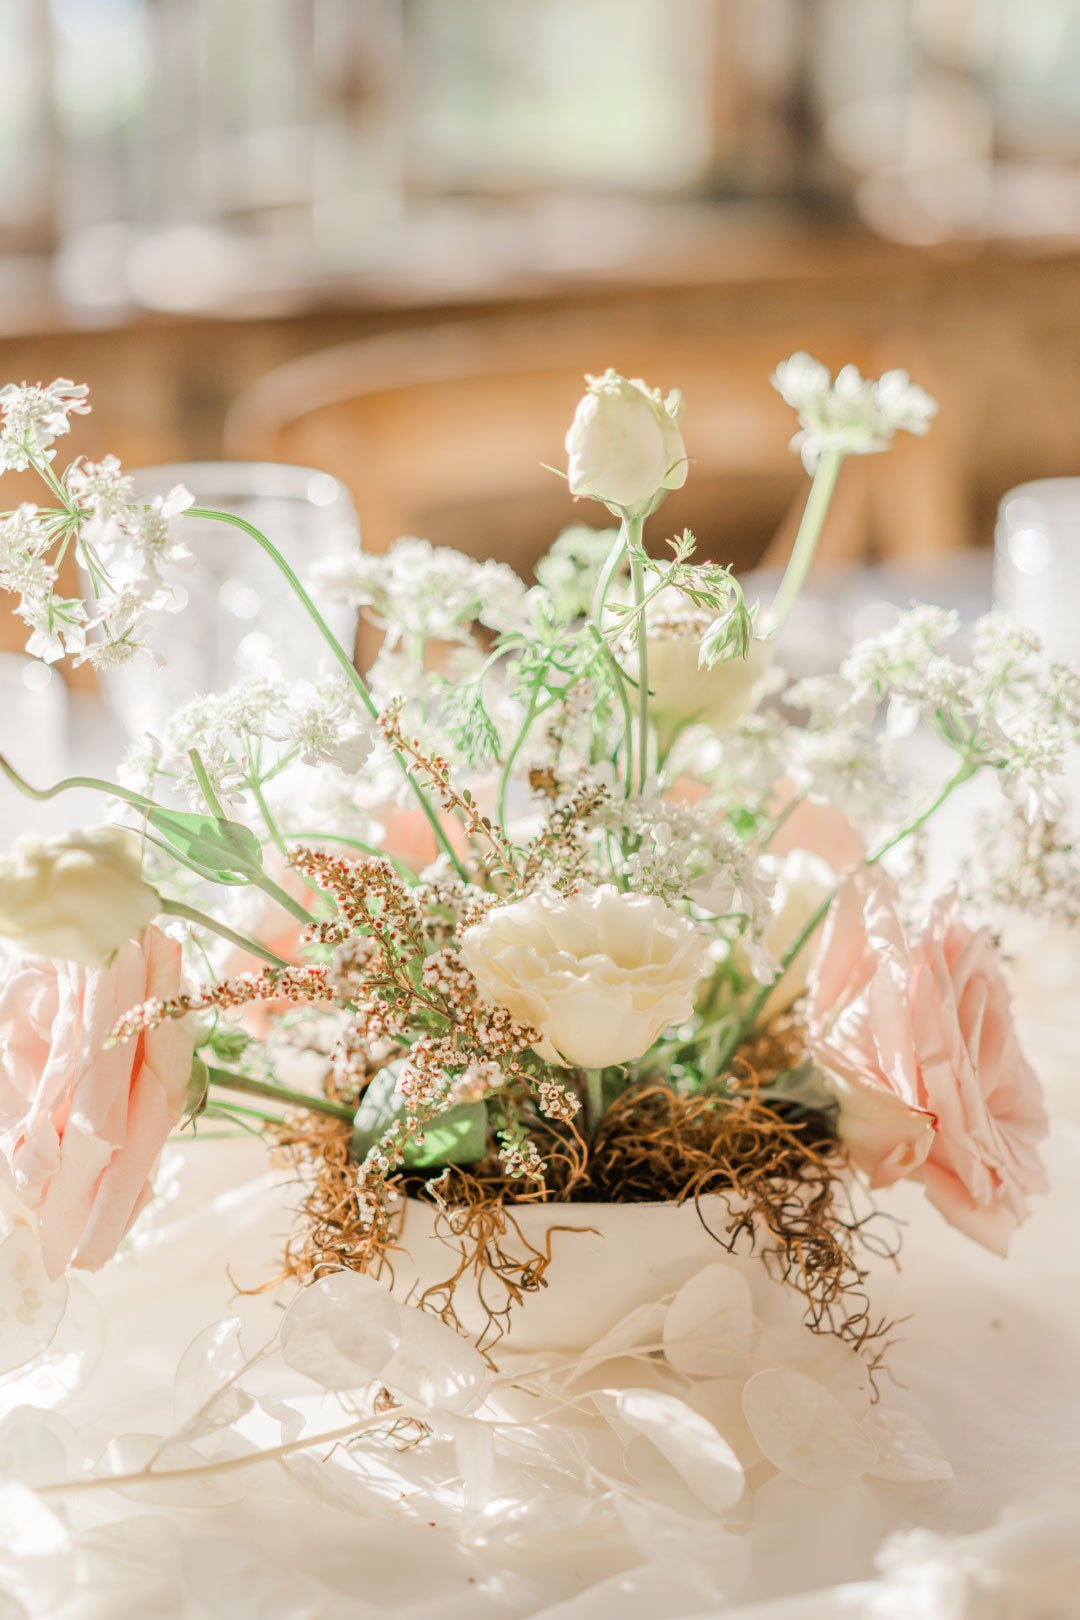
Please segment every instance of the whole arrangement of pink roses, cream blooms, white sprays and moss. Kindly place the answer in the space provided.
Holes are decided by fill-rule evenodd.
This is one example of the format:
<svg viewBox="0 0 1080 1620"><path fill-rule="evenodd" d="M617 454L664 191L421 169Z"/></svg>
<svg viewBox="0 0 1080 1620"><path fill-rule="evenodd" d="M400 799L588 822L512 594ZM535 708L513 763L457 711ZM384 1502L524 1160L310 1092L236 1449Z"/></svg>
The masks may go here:
<svg viewBox="0 0 1080 1620"><path fill-rule="evenodd" d="M210 1129L262 1131L301 1171L301 1278L392 1272L403 1207L431 1205L449 1319L466 1272L502 1278L510 1322L547 1281L551 1244L505 1241L529 1204L722 1194L717 1244L756 1244L857 1345L879 1330L870 1191L918 1181L1006 1252L1044 1189L1044 1115L973 912L1077 893L1056 784L1080 676L1001 616L954 651L955 616L913 606L789 682L782 632L844 458L936 407L904 373L832 379L806 355L772 381L811 484L764 606L690 533L646 551L688 476L682 402L612 371L588 379L565 476L615 525L563 533L533 585L419 539L301 582L185 489L138 504L112 457L57 471L86 389L0 390L0 468L36 470L49 501L0 518L29 653L152 656L185 512L261 546L325 648L309 682L194 698L117 782L3 763L110 816L0 862L0 1165L50 1275L102 1265L167 1137ZM86 601L58 591L66 552ZM385 630L366 676L327 598ZM913 778L915 732L939 781ZM999 807L926 894L925 828L976 774Z"/></svg>

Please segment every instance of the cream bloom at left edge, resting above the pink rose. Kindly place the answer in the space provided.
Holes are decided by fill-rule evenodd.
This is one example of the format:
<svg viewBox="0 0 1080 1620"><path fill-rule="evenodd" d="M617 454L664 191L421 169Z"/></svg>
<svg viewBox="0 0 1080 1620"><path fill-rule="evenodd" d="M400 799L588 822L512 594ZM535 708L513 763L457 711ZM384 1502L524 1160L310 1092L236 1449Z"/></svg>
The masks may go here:
<svg viewBox="0 0 1080 1620"><path fill-rule="evenodd" d="M107 967L159 915L139 844L120 826L19 838L0 860L0 935L28 956Z"/></svg>

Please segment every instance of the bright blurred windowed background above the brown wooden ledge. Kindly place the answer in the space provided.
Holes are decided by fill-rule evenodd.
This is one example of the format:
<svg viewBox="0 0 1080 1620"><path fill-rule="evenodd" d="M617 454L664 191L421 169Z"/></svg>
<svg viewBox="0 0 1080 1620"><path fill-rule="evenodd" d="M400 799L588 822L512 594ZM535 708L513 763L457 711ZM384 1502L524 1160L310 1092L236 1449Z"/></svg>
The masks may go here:
<svg viewBox="0 0 1080 1620"><path fill-rule="evenodd" d="M68 301L588 264L575 198L1077 233L1080 5L0 0L0 254Z"/></svg>

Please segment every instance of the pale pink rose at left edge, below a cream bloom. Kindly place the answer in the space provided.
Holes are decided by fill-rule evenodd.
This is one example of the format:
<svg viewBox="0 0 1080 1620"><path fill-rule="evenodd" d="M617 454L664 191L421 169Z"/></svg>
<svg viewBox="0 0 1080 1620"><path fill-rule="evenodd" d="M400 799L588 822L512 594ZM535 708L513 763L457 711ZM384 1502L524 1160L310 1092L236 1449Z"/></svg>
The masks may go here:
<svg viewBox="0 0 1080 1620"><path fill-rule="evenodd" d="M97 1270L151 1197L183 1111L194 1029L165 1021L105 1047L121 1013L181 988L180 944L151 925L108 967L0 966L0 1171L37 1210L50 1277Z"/></svg>

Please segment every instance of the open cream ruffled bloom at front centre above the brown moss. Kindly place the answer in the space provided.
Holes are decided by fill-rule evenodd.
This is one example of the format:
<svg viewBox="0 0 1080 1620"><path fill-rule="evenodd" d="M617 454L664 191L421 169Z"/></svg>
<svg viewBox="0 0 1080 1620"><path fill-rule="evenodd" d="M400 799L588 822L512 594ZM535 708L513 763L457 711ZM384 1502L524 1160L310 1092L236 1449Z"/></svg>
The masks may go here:
<svg viewBox="0 0 1080 1620"><path fill-rule="evenodd" d="M487 1001L539 1030L549 1063L633 1063L687 1017L704 966L695 925L610 885L529 894L470 928L461 957Z"/></svg>

